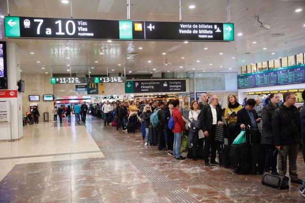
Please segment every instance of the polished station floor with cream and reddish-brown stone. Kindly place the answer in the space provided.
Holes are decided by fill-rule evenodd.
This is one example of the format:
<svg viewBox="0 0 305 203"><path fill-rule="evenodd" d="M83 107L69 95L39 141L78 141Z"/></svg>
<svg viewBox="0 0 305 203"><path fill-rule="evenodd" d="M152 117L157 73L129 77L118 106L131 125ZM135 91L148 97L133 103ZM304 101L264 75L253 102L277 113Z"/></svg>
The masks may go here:
<svg viewBox="0 0 305 203"><path fill-rule="evenodd" d="M0 142L0 203L305 202L300 185L278 190L261 185L261 175L175 160L144 146L140 133L103 123L91 116L85 125L50 121ZM301 153L297 163L304 178Z"/></svg>

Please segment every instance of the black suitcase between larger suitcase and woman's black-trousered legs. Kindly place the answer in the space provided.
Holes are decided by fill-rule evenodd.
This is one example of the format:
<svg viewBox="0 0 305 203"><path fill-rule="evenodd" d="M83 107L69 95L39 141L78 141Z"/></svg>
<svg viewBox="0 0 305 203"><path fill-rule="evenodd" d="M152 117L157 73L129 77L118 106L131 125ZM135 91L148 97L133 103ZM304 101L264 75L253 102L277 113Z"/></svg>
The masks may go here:
<svg viewBox="0 0 305 203"><path fill-rule="evenodd" d="M265 148L263 145L251 144L252 173L262 174L265 168Z"/></svg>

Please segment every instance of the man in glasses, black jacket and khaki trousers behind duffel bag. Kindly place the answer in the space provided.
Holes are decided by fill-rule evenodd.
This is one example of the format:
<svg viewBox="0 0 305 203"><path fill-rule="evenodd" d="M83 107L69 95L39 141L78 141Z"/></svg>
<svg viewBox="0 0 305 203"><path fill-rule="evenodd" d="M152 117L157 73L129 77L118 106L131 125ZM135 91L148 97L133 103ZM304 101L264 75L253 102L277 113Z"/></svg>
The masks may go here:
<svg viewBox="0 0 305 203"><path fill-rule="evenodd" d="M296 165L300 144L300 112L294 106L296 98L293 92L283 93L283 99L284 103L274 110L272 116L274 144L279 150L278 173L281 175L287 173L287 156L289 156L290 181L302 184Z"/></svg>

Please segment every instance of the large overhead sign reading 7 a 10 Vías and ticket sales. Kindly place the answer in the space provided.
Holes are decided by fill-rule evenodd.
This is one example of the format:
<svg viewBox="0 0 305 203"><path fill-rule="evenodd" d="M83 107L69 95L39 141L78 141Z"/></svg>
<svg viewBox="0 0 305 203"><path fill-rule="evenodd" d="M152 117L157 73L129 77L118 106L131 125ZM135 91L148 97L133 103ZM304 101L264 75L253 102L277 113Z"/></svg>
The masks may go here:
<svg viewBox="0 0 305 203"><path fill-rule="evenodd" d="M234 41L233 23L5 16L4 29L5 37L20 38Z"/></svg>

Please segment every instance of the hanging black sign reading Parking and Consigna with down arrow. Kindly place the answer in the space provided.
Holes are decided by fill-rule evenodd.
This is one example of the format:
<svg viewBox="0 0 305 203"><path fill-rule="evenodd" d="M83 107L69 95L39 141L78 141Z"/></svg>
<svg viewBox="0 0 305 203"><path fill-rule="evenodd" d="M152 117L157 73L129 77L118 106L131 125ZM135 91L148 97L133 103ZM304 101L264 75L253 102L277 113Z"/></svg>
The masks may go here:
<svg viewBox="0 0 305 203"><path fill-rule="evenodd" d="M125 82L125 93L185 92L185 80L134 80Z"/></svg>

